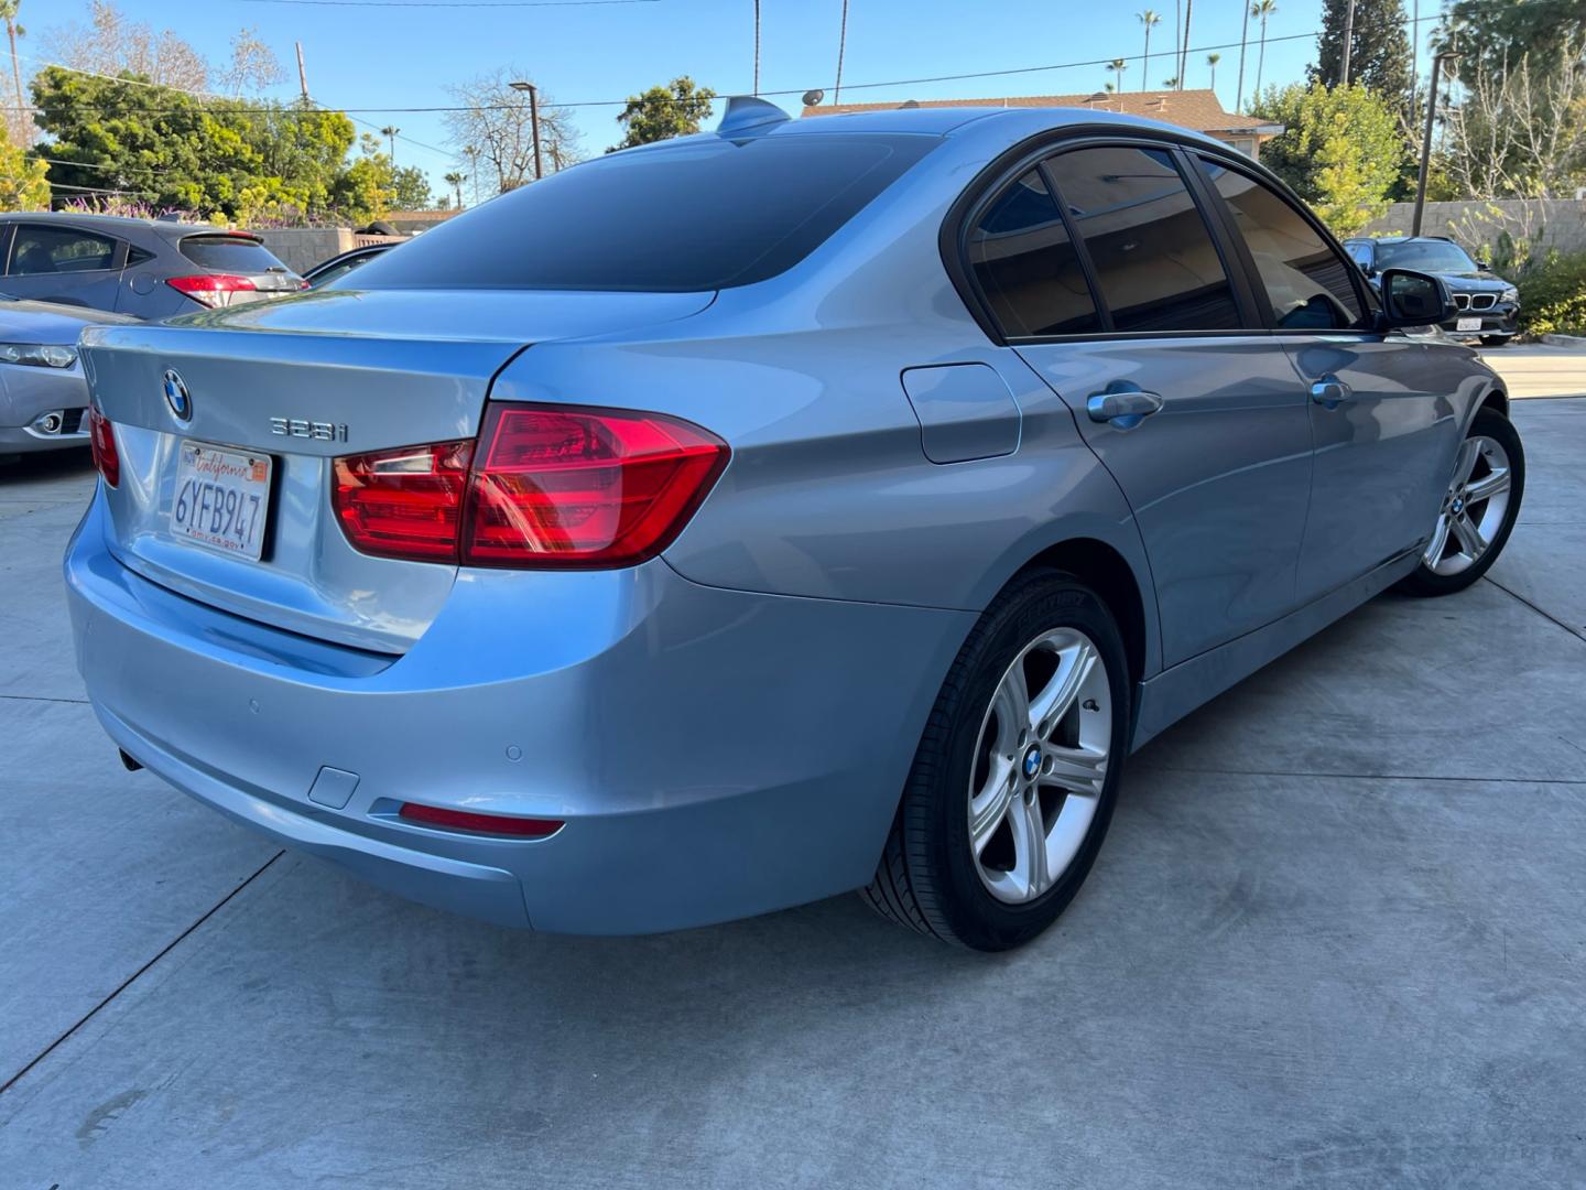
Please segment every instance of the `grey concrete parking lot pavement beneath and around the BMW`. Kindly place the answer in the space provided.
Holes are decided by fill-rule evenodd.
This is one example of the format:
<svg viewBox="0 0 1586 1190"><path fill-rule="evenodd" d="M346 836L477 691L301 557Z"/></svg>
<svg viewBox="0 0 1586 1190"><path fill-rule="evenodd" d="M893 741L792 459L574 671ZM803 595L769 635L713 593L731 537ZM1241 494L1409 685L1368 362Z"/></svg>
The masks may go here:
<svg viewBox="0 0 1586 1190"><path fill-rule="evenodd" d="M1137 754L1002 957L853 896L514 933L278 852L122 770L59 578L90 466L0 470L0 1190L1580 1187L1586 400L1515 419L1491 576Z"/></svg>

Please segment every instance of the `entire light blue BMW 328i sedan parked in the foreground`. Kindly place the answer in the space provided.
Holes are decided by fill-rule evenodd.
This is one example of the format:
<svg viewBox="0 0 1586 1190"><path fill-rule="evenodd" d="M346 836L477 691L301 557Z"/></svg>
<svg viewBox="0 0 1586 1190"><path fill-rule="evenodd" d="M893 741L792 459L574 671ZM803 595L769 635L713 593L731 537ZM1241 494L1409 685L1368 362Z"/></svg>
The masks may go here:
<svg viewBox="0 0 1586 1190"><path fill-rule="evenodd" d="M1502 384L1402 333L1450 305L1164 124L733 100L89 328L78 665L128 766L430 904L1013 947L1132 749L1504 547Z"/></svg>

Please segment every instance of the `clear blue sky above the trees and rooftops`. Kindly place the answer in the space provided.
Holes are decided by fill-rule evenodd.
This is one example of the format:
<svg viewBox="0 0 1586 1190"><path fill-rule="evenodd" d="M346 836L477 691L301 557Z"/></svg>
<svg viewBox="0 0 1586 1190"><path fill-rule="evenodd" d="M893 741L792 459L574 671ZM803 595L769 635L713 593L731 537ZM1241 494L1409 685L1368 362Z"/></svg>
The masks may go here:
<svg viewBox="0 0 1586 1190"><path fill-rule="evenodd" d="M1220 51L1216 75L1228 108L1234 105L1243 2L1194 5L1191 48L1234 43L1232 49ZM620 100L684 73L720 94L747 92L753 78L752 0L406 10L260 0L121 0L119 6L155 29L174 29L214 60L227 56L230 36L239 27L255 27L292 75L289 84L276 89L282 98L297 90L292 43L300 40L311 94L335 108L444 105L447 84L508 65L533 78L560 103ZM1104 67L852 90L850 84L1110 57L1129 59L1124 86L1134 90L1140 86L1144 40L1136 13L1144 6L1139 0L1132 5L850 0L844 98L902 102L1099 90L1110 78ZM1155 0L1155 6L1164 16L1151 35L1147 78L1158 87L1174 73L1169 59L1155 57L1172 43L1174 8L1164 0ZM1437 6L1437 0L1423 0L1423 16ZM30 30L22 52L41 54L41 35L65 21L86 21L87 8L87 0L22 0L21 21ZM825 87L829 100L841 11L842 0L761 0L761 90ZM1280 0L1269 38L1312 33L1320 17L1321 0ZM1421 27L1429 30L1431 22ZM1255 25L1247 89L1255 76L1253 43ZM1264 79L1297 79L1313 57L1310 36L1269 40ZM1191 52L1190 60L1188 84L1207 86L1205 51ZM24 68L36 65L24 62ZM796 109L798 97L777 102ZM577 109L587 152L600 152L620 138L617 111L617 106ZM396 141L398 163L423 167L436 190L444 189L439 176L455 167L439 114L390 111L365 113L360 119L396 124L403 130Z"/></svg>

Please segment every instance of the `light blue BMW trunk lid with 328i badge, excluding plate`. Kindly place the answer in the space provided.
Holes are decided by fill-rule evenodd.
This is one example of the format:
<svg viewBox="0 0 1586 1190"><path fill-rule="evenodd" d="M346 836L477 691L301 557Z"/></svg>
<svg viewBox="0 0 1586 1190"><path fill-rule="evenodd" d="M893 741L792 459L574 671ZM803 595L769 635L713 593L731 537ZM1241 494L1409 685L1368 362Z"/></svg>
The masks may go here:
<svg viewBox="0 0 1586 1190"><path fill-rule="evenodd" d="M711 297L319 290L173 324L92 327L84 368L121 454L111 549L211 606L403 652L455 566L354 551L330 508L335 457L471 438L492 378L523 347L687 317ZM257 560L174 532L178 474L190 478L184 443L270 460Z"/></svg>

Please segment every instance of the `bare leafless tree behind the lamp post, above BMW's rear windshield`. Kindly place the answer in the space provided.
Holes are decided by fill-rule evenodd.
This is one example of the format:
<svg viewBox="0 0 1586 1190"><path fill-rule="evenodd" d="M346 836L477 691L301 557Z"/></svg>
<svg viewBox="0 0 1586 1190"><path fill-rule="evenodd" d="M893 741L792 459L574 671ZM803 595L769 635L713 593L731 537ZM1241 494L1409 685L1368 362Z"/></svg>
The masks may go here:
<svg viewBox="0 0 1586 1190"><path fill-rule="evenodd" d="M493 184L498 194L534 179L528 94L511 86L527 79L514 67L503 67L447 87L463 109L446 114L446 130L454 144L477 149L469 155L474 178L487 189ZM557 108L544 90L539 90L539 152L546 173L565 170L584 152L571 114Z"/></svg>

